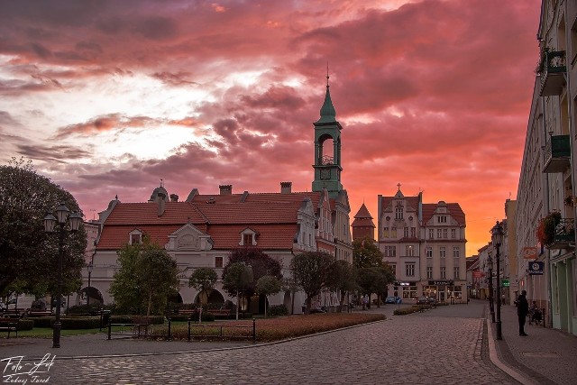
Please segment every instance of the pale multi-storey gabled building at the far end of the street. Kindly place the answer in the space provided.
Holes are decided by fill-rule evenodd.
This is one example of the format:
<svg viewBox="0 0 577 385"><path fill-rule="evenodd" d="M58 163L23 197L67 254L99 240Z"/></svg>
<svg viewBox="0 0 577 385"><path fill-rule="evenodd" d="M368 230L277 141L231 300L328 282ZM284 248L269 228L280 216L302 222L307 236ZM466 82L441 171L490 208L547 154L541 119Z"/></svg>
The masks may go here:
<svg viewBox="0 0 577 385"><path fill-rule="evenodd" d="M398 297L467 298L465 215L458 203L423 203L423 194L378 197L378 234Z"/></svg>

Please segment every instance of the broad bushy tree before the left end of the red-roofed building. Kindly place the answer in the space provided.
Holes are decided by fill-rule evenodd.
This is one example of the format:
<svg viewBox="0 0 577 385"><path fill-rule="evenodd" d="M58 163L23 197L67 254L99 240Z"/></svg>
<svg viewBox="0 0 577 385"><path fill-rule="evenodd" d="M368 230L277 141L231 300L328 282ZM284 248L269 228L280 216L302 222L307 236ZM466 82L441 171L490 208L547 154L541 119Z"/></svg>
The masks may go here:
<svg viewBox="0 0 577 385"><path fill-rule="evenodd" d="M109 292L118 307L129 313L160 314L166 308L169 296L179 289L177 262L168 252L150 243L126 244L117 252L119 270Z"/></svg>

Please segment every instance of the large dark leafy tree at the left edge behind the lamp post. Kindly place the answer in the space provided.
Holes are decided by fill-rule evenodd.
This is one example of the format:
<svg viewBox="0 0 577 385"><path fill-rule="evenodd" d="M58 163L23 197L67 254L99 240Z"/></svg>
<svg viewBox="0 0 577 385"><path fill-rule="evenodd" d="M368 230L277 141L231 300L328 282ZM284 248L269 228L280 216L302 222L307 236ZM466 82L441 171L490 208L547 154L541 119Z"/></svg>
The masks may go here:
<svg viewBox="0 0 577 385"><path fill-rule="evenodd" d="M9 165L0 166L0 294L12 289L37 296L56 293L59 240L58 235L44 232L42 219L62 203L82 215L76 199L38 175L32 161L13 158ZM87 234L81 225L64 245L64 294L80 289L86 247Z"/></svg>

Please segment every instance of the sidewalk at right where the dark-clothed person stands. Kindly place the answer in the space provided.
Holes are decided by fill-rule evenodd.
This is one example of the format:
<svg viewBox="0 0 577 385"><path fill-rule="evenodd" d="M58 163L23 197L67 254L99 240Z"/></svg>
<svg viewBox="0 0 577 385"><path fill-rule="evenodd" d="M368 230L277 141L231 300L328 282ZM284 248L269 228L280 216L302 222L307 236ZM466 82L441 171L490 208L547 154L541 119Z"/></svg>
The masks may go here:
<svg viewBox="0 0 577 385"><path fill-rule="evenodd" d="M527 337L518 335L517 307L501 307L501 332L488 313L490 359L524 384L574 384L577 379L577 336L543 325L525 325Z"/></svg>

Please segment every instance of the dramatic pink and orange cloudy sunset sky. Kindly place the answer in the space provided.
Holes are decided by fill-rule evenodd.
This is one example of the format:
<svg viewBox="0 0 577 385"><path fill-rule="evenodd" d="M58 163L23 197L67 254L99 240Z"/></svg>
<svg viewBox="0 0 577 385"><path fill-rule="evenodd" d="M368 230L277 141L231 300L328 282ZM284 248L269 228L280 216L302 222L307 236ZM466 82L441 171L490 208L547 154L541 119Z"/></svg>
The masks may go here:
<svg viewBox="0 0 577 385"><path fill-rule="evenodd" d="M118 195L310 190L330 67L351 216L458 202L467 255L517 196L540 1L4 1L0 163L88 219Z"/></svg>

